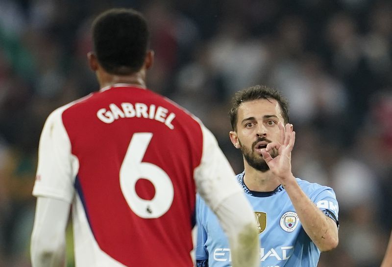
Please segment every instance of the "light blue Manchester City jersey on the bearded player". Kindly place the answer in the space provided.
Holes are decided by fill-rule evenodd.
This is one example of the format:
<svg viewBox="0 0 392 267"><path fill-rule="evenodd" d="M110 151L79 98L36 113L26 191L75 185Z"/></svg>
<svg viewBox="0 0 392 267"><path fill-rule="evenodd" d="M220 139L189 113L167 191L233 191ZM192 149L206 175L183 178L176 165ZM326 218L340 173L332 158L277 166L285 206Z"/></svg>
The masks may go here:
<svg viewBox="0 0 392 267"><path fill-rule="evenodd" d="M260 267L316 267L320 251L302 228L286 190L250 191L244 184L244 172L237 175L257 221L261 240ZM338 202L332 188L296 178L305 194L317 207L338 223ZM218 218L197 196L196 201L198 266L230 267L228 240Z"/></svg>

